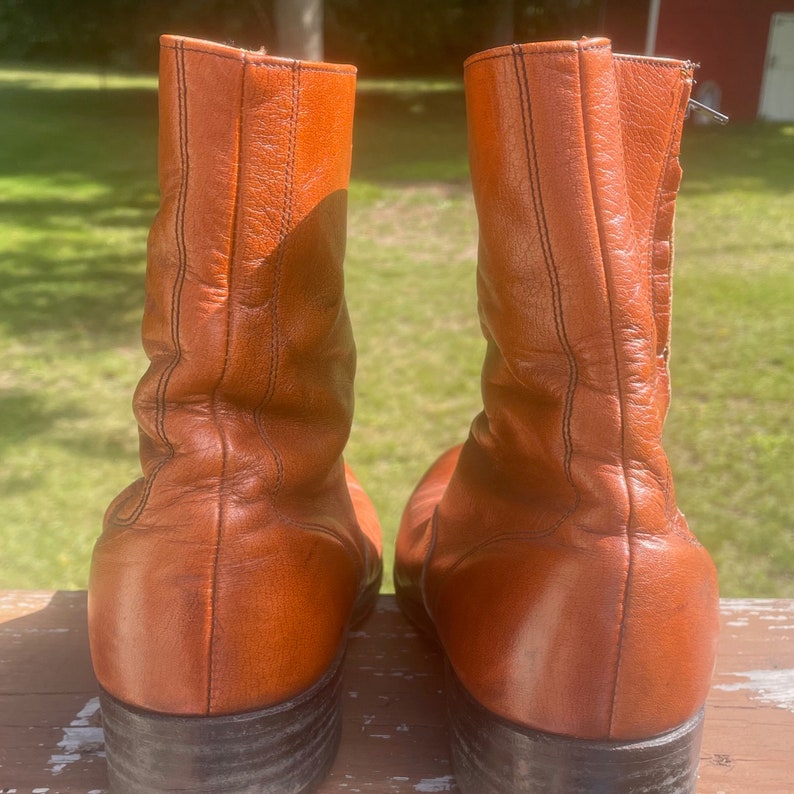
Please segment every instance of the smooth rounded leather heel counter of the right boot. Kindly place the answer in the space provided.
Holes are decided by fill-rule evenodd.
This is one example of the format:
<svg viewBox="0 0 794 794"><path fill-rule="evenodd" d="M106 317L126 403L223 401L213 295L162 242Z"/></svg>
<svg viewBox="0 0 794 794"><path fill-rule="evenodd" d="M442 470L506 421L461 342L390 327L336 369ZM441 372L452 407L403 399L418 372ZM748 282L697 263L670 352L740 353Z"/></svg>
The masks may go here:
<svg viewBox="0 0 794 794"><path fill-rule="evenodd" d="M718 592L674 533L494 540L426 592L450 664L486 709L583 739L638 739L695 715L716 655Z"/></svg>

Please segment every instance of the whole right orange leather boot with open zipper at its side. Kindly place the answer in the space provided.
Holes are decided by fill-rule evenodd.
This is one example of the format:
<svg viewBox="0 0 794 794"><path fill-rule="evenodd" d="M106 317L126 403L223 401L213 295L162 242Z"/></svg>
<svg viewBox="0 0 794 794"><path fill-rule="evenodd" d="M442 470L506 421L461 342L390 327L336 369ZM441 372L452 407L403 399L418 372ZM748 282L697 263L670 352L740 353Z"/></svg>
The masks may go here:
<svg viewBox="0 0 794 794"><path fill-rule="evenodd" d="M605 39L466 63L484 410L403 516L467 794L694 791L718 593L662 448L691 65Z"/></svg>

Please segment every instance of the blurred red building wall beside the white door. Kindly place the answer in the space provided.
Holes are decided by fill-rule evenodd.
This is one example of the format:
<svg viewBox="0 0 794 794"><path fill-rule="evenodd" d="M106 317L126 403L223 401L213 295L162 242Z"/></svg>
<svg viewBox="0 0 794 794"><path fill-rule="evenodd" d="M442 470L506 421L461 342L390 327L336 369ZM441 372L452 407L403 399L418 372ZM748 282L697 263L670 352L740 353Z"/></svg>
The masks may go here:
<svg viewBox="0 0 794 794"><path fill-rule="evenodd" d="M604 34L623 52L643 52L649 0L607 0ZM722 89L732 119L758 114L772 14L794 0L661 0L656 55L700 63L699 83Z"/></svg>

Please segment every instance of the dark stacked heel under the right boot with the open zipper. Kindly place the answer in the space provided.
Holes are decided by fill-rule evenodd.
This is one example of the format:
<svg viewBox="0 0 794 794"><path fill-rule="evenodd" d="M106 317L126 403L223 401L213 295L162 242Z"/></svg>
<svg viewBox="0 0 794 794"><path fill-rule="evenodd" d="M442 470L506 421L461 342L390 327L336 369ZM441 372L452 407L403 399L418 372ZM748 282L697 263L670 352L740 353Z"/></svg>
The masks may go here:
<svg viewBox="0 0 794 794"><path fill-rule="evenodd" d="M452 765L464 794L693 794L703 712L631 742L573 739L487 711L447 670Z"/></svg>

